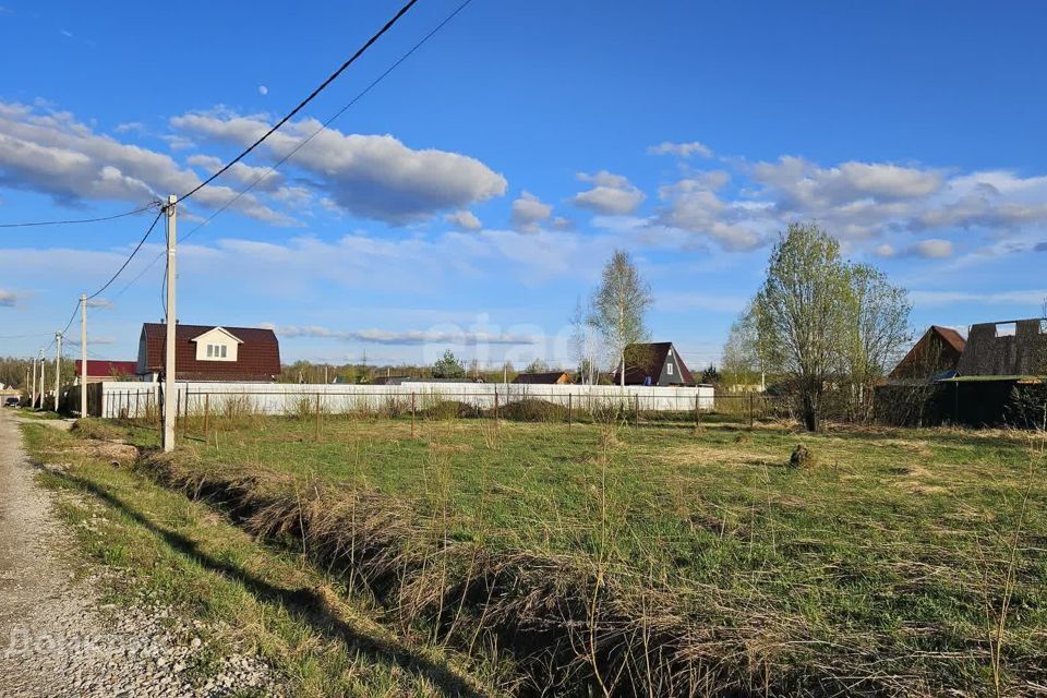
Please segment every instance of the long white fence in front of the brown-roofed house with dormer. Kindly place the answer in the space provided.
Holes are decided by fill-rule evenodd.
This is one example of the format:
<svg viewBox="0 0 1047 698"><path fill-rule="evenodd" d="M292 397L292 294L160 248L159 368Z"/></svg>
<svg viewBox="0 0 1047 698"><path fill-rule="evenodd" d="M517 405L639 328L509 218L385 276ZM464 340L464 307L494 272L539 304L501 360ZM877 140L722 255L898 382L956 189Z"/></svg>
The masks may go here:
<svg viewBox="0 0 1047 698"><path fill-rule="evenodd" d="M533 399L576 409L604 408L619 405L646 412L710 411L713 409L713 388L650 387L628 385L518 385L506 383L429 383L412 382L401 385L325 385L293 383L201 383L174 384L180 410L189 406L191 412L207 408L218 412L227 406L260 414L289 414L298 411L304 400L320 400L325 412L340 413L356 410L381 410L393 405L409 407L416 401L421 409L426 404L455 400L478 409L492 409L520 400ZM145 417L155 413L163 402L163 384L136 382L107 382L101 384L100 414L103 418Z"/></svg>

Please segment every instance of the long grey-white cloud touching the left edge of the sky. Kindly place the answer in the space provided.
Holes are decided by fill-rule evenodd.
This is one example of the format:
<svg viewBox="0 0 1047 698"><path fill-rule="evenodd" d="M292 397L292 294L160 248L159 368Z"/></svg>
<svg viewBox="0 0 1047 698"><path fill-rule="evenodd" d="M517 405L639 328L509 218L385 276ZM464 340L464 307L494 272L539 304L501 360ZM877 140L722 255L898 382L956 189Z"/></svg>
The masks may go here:
<svg viewBox="0 0 1047 698"><path fill-rule="evenodd" d="M68 112L0 101L0 185L48 194L64 205L84 200L141 205L200 181L170 156L97 134ZM193 203L216 208L234 195L228 186L212 185ZM265 222L293 222L250 194L234 207Z"/></svg>

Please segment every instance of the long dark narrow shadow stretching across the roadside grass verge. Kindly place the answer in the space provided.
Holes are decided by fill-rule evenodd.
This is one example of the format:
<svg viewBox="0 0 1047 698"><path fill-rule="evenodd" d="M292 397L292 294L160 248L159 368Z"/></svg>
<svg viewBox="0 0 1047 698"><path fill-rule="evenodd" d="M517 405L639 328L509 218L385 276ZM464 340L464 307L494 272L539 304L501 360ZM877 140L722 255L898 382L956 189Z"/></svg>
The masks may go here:
<svg viewBox="0 0 1047 698"><path fill-rule="evenodd" d="M52 472L52 474L60 480L64 480L71 486L89 492L108 506L123 513L144 529L159 537L184 558L227 579L240 582L260 602L278 603L292 617L308 624L321 635L345 642L351 652L359 653L372 661L396 663L409 673L423 676L452 696L480 698L485 695L447 667L433 662L410 648L360 634L340 619L329 606L327 600L315 590L308 588L285 589L272 585L236 565L215 559L202 552L191 539L151 520L146 515L105 488L69 472Z"/></svg>

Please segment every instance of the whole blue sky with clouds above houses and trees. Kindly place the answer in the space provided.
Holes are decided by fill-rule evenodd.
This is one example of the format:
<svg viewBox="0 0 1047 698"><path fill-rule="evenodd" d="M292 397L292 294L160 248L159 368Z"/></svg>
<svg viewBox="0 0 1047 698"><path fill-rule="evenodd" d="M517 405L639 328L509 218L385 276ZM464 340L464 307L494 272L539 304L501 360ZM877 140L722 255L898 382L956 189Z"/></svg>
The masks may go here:
<svg viewBox="0 0 1047 698"><path fill-rule="evenodd" d="M190 189L398 7L0 3L0 222ZM576 300L624 248L654 292L653 337L701 365L778 232L813 219L911 289L916 328L1038 314L1036 2L473 0L194 231L455 7L421 0L186 202L183 322L272 324L286 361L429 362L450 347L570 365ZM0 354L47 344L21 335L60 329L148 224L0 230ZM134 358L141 323L161 316L161 241L92 309L93 356Z"/></svg>

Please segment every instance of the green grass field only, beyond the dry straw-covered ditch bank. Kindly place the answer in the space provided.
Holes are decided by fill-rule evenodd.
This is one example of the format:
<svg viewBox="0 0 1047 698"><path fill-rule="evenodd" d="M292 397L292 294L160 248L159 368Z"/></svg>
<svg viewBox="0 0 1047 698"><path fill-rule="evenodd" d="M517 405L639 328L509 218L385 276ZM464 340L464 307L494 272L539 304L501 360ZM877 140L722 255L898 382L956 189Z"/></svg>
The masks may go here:
<svg viewBox="0 0 1047 698"><path fill-rule="evenodd" d="M570 556L670 590L770 657L899 685L1047 682L1043 435L781 425L251 418L190 424L209 472L402 503L456 541ZM133 441L156 445L153 430ZM786 467L803 444L816 465Z"/></svg>

